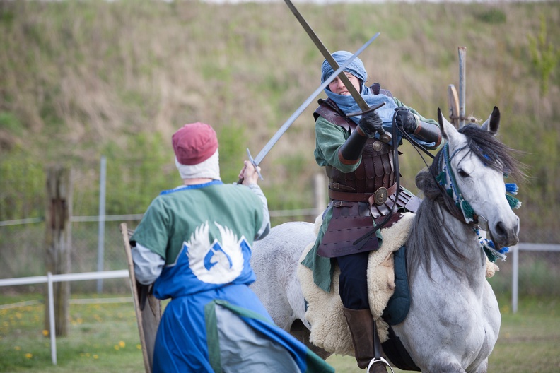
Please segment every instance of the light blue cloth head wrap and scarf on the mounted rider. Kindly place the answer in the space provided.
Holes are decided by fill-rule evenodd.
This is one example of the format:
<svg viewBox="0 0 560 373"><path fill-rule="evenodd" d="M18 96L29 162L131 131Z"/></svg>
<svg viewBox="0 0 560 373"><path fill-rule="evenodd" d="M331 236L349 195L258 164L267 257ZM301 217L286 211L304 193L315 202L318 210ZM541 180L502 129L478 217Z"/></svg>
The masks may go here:
<svg viewBox="0 0 560 373"><path fill-rule="evenodd" d="M338 51L332 54L334 61L337 61L337 64L342 65L344 62L352 57L350 52L346 51ZM377 110L378 114L380 115L381 119L383 119L383 125L387 126L390 130L392 126L392 116L395 112L395 100L392 98L387 97L386 95L374 95L371 89L366 85L366 81L368 81L368 73L366 72L366 68L363 66L363 62L361 59L356 57L354 61L352 61L344 71L351 73L352 75L356 76L356 78L360 79L361 89L360 94L364 100L368 103L368 105L374 106L378 105L381 102L385 102L385 106L381 107ZM321 83L324 83L329 76L334 73L334 69L330 66L329 62L325 59L321 66ZM356 100L351 95L338 95L337 93L332 92L329 88L325 88L325 93L327 96L331 98L334 102L337 103L338 107L346 114L351 112L360 112L361 109L356 103ZM351 117L354 122L360 122L361 115L356 117Z"/></svg>

